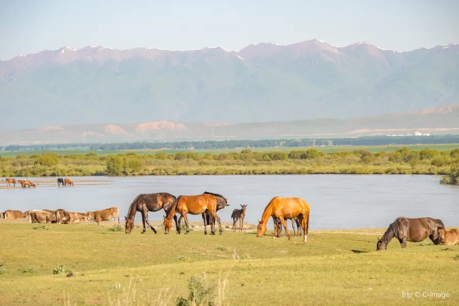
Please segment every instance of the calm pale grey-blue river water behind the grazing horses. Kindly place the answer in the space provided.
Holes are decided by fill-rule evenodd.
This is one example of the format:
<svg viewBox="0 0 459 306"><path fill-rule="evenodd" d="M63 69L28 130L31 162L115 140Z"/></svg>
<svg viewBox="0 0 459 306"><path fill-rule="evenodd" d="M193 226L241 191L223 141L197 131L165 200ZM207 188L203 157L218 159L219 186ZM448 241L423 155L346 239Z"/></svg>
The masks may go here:
<svg viewBox="0 0 459 306"><path fill-rule="evenodd" d="M79 180L91 179L110 184L78 185ZM440 218L446 226L459 225L459 188L442 186L440 178L431 175L97 176L72 180L75 186L67 188L43 184L27 190L0 189L0 210L86 212L117 206L123 220L139 193L179 196L210 191L223 194L231 205L218 212L222 221L231 221L233 209L248 204L245 220L255 224L272 197L297 196L310 205L311 229L386 227L399 216ZM162 221L163 214L150 212L148 216L151 221ZM189 220L202 219L189 216ZM136 221L141 221L140 213ZM268 228L272 229L271 220Z"/></svg>

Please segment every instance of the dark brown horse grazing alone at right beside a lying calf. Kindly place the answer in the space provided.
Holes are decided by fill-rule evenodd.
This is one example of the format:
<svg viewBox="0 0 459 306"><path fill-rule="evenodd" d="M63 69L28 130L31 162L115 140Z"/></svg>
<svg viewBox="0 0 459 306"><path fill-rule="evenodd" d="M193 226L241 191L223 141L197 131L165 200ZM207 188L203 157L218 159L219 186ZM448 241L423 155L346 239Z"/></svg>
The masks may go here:
<svg viewBox="0 0 459 306"><path fill-rule="evenodd" d="M394 237L400 242L402 248L406 247L406 241L420 242L427 237L437 245L442 242L438 233L440 229L445 229L440 219L399 217L389 225L381 239L378 238L376 250L387 249L387 245Z"/></svg>

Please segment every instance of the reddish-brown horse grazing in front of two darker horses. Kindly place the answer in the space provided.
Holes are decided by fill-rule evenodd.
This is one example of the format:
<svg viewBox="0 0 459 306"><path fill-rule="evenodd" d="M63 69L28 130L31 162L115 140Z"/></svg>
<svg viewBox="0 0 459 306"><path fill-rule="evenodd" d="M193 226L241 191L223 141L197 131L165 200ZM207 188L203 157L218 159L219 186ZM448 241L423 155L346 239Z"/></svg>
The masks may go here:
<svg viewBox="0 0 459 306"><path fill-rule="evenodd" d="M172 226L172 217L175 216L175 214L180 214L179 228L182 218L185 220L185 224L187 225L186 235L190 232L187 215L200 215L206 210L208 210L212 217L217 220L218 226L220 227L220 235L222 235L223 231L221 228L220 217L217 215L217 197L211 194L181 195L177 197L171 209L167 213L167 216L164 217L164 234L169 234L170 227ZM207 225L206 223L207 218L204 219L205 226Z"/></svg>

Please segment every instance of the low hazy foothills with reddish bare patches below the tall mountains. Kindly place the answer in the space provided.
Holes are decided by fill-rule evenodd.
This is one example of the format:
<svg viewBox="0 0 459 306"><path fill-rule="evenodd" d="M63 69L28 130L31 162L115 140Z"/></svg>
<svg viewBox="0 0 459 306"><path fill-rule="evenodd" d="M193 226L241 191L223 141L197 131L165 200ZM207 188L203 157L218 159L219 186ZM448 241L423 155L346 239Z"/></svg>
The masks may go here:
<svg viewBox="0 0 459 306"><path fill-rule="evenodd" d="M422 133L459 134L459 104L352 119L274 122L150 121L136 124L46 126L0 131L0 144L110 143L271 138L331 138Z"/></svg>

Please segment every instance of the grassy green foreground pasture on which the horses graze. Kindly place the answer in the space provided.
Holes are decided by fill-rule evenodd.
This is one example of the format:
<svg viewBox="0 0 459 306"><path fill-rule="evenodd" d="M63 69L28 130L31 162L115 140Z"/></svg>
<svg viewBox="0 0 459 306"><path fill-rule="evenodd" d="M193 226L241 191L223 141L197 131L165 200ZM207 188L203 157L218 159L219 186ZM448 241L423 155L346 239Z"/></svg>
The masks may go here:
<svg viewBox="0 0 459 306"><path fill-rule="evenodd" d="M269 231L262 238L231 230L185 236L140 235L136 228L126 235L92 224L0 221L5 305L175 305L177 297L188 297L193 275L215 284L215 305L459 303L459 245L409 243L402 250L394 240L376 252L384 229L311 231L302 243L273 239ZM54 275L59 264L73 276Z"/></svg>

